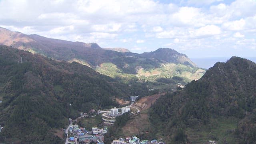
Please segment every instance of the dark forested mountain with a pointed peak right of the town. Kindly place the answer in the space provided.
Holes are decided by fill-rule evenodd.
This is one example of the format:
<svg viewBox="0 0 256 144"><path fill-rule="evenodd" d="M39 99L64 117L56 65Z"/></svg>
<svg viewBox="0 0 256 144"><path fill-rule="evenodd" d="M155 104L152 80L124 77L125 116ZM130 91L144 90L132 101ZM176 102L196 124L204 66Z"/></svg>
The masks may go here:
<svg viewBox="0 0 256 144"><path fill-rule="evenodd" d="M232 57L158 99L150 119L170 143L256 142L256 64Z"/></svg>

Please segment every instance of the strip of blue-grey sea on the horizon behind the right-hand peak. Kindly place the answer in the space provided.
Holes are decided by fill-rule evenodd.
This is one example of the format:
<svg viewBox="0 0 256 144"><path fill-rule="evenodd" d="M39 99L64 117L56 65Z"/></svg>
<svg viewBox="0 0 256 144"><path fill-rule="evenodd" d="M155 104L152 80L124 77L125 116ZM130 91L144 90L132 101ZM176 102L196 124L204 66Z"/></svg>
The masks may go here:
<svg viewBox="0 0 256 144"><path fill-rule="evenodd" d="M218 57L218 58L190 58L199 68L211 68L216 62L227 62L230 58ZM256 57L246 58L256 63Z"/></svg>

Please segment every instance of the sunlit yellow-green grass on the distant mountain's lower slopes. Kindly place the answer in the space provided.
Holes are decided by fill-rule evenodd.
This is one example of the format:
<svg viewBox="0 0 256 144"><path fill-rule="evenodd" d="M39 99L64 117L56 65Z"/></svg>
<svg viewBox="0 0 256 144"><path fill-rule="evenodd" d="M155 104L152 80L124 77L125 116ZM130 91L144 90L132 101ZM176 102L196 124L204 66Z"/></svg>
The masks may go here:
<svg viewBox="0 0 256 144"><path fill-rule="evenodd" d="M134 68L136 66L130 67ZM186 65L172 63L164 64L156 68L141 68L138 70L137 74L126 74L112 63L103 63L100 67L96 68L96 71L112 78L121 78L122 82L125 83L132 79L138 79L138 81L141 82L149 81L151 82L152 88L166 88L166 84L156 82L158 78L172 78L173 76L179 76L183 77L183 82L187 83L192 80L198 80L205 73L205 70L200 68L191 68Z"/></svg>

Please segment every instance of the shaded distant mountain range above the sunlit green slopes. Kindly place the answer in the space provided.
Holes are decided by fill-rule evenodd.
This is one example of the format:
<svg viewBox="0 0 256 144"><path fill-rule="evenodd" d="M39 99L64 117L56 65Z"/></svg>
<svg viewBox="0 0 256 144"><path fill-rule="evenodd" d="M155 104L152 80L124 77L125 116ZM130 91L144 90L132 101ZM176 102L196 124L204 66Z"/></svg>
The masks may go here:
<svg viewBox="0 0 256 144"><path fill-rule="evenodd" d="M20 32L12 32L5 28L0 28L0 44L12 46L21 50L43 54L56 60L72 61L79 59L92 67L103 62L113 62L116 64L115 57L122 57L127 63L129 58L148 58L154 62L172 62L175 64L188 64L196 66L186 55L180 54L172 49L158 49L155 52L136 54L122 48L101 48L96 43L86 44L83 42L70 42L45 38L36 34L26 35ZM118 52L122 51L122 52ZM120 59L118 59L120 60ZM125 65L116 64L120 68Z"/></svg>

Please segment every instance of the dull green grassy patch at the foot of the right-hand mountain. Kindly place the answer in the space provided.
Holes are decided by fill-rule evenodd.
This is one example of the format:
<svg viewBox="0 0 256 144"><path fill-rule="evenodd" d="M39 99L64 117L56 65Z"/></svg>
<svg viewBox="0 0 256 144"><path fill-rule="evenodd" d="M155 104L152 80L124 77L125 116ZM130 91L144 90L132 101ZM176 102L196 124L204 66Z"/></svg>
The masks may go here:
<svg viewBox="0 0 256 144"><path fill-rule="evenodd" d="M186 128L188 139L193 144L202 144L209 140L216 140L218 143L236 143L234 131L238 120L236 118L212 119L211 123L201 128Z"/></svg>

